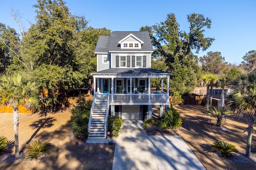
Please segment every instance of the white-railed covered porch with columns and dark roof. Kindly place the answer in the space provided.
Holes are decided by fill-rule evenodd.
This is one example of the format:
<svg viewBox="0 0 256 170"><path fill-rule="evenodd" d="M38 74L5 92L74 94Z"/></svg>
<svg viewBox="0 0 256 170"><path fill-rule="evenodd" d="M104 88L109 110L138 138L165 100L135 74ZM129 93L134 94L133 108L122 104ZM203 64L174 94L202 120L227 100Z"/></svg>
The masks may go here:
<svg viewBox="0 0 256 170"><path fill-rule="evenodd" d="M152 68L110 68L92 73L96 87L94 96L110 94L110 102L169 102L169 79L171 73ZM158 90L151 88L152 78L160 78ZM166 92L164 88L166 80ZM99 99L100 100L100 99Z"/></svg>

